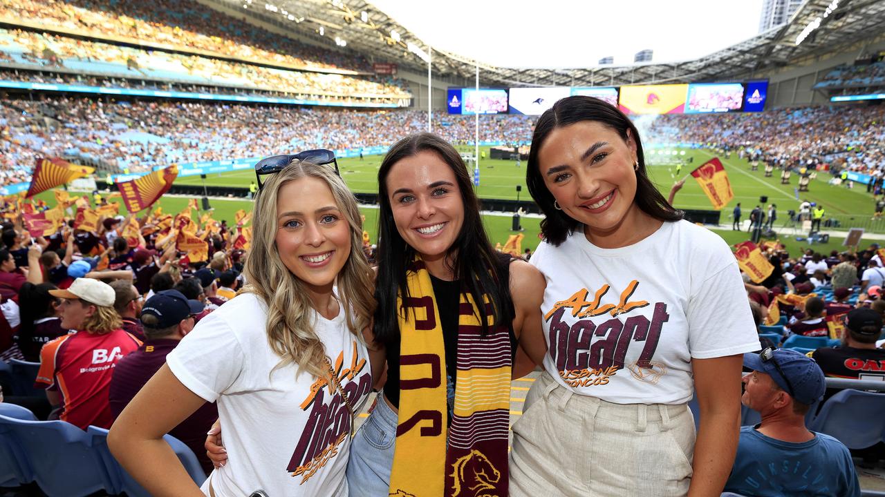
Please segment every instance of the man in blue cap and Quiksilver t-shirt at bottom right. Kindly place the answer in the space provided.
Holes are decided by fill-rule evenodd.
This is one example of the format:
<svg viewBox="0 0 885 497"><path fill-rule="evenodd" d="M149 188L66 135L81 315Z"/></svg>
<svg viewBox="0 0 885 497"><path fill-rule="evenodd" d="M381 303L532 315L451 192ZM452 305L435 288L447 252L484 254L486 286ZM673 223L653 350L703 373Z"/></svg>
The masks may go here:
<svg viewBox="0 0 885 497"><path fill-rule="evenodd" d="M848 447L805 427L805 413L827 384L810 357L766 348L745 354L743 405L762 423L743 426L726 492L742 495L859 497L858 475Z"/></svg>

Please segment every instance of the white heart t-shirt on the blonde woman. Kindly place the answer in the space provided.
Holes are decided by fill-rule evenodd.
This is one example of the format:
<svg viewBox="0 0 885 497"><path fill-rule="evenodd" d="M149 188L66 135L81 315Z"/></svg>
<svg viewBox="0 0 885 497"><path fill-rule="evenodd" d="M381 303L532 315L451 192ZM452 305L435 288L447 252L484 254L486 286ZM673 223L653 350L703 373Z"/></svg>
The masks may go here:
<svg viewBox="0 0 885 497"><path fill-rule="evenodd" d="M241 294L200 320L166 363L184 386L217 401L228 463L212 471L218 497L256 490L270 496L347 497L350 412L335 386L319 386L296 366L273 368L280 356L266 337L267 310L255 294ZM372 390L365 344L347 329L344 311L316 314L314 331L357 411ZM325 382L323 382L325 385Z"/></svg>

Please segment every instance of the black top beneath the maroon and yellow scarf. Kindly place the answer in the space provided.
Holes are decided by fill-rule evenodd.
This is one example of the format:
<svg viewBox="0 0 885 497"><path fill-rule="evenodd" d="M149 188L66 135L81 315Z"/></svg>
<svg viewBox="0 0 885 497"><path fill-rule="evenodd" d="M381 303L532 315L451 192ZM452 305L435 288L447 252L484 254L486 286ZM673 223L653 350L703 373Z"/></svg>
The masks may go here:
<svg viewBox="0 0 885 497"><path fill-rule="evenodd" d="M501 281L510 281L510 256L503 256L499 260L498 276ZM443 279L430 276L430 282L434 287L434 296L436 300L436 309L439 311L440 325L443 328L443 347L445 348L445 367L448 382L448 399L449 399L449 415L451 417L452 403L455 397L455 383L457 363L458 363L458 302L460 300L461 284L459 281L445 281ZM507 330L510 333L511 359L516 357L517 340L516 334L513 333L513 317L516 316L513 310L510 292L507 292L507 301L504 302L504 315L506 317ZM390 340L386 344L387 349L387 382L384 385L384 397L390 404L397 409L399 408L399 354L400 354L400 337L397 335L396 340Z"/></svg>

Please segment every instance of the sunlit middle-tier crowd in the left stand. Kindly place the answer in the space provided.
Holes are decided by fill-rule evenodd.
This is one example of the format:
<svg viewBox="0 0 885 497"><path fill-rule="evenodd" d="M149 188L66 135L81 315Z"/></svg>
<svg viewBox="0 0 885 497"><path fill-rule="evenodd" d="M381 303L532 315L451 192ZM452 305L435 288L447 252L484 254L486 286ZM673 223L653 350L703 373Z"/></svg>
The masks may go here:
<svg viewBox="0 0 885 497"><path fill-rule="evenodd" d="M387 78L389 83L382 83L341 74L274 69L219 58L140 50L20 29L0 29L0 50L5 52L8 62L34 65L35 68L62 68L77 63L74 69L83 74L177 80L221 87L338 97L331 100L359 100L366 96L383 96L386 101L411 98L404 82L394 78Z"/></svg>

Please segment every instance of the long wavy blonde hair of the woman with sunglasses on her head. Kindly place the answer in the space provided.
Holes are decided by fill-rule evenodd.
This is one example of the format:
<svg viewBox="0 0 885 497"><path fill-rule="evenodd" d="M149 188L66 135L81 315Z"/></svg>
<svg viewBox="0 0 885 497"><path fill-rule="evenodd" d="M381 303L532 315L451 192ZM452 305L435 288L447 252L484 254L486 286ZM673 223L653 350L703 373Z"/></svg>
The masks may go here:
<svg viewBox="0 0 885 497"><path fill-rule="evenodd" d="M267 305L267 340L282 358L276 367L296 363L299 374L307 371L322 378L328 376L326 348L313 330L312 302L304 283L282 263L276 248L280 189L289 181L303 178L326 183L350 226L350 254L336 279L337 296L350 333L362 340L362 330L369 325L375 308L372 269L362 251L362 218L357 199L327 165L293 160L258 192L252 208L252 246L243 267L250 285L242 291L256 294Z"/></svg>

